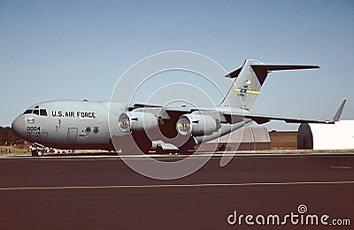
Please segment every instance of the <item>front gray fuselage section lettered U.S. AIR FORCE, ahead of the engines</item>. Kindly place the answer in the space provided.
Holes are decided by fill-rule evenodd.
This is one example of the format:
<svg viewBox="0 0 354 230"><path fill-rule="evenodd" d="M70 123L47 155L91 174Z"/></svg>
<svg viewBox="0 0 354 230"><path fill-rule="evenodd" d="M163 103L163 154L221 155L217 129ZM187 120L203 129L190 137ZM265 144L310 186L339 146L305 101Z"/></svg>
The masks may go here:
<svg viewBox="0 0 354 230"><path fill-rule="evenodd" d="M120 111L127 111L127 104L116 104L115 107L119 107ZM114 149L108 127L109 113L108 102L36 103L13 121L12 128L26 141L47 147ZM119 129L114 132L116 135L123 135Z"/></svg>

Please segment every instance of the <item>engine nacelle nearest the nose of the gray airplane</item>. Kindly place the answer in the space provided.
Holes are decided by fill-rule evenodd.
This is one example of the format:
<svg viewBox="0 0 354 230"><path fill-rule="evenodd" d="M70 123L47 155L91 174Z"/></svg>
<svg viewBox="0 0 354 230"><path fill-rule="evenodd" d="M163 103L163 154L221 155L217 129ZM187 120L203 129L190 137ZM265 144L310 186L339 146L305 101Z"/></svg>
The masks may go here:
<svg viewBox="0 0 354 230"><path fill-rule="evenodd" d="M128 111L120 114L119 129L122 132L144 131L158 127L158 119L150 112Z"/></svg>

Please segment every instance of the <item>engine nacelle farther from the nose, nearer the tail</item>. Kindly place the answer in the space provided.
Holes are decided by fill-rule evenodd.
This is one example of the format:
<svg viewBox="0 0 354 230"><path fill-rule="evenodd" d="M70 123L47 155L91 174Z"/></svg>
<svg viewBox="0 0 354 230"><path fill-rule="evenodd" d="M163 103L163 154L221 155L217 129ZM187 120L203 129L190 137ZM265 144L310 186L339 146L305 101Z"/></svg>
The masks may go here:
<svg viewBox="0 0 354 230"><path fill-rule="evenodd" d="M220 128L220 121L210 115L184 114L176 123L177 132L181 135L210 135Z"/></svg>

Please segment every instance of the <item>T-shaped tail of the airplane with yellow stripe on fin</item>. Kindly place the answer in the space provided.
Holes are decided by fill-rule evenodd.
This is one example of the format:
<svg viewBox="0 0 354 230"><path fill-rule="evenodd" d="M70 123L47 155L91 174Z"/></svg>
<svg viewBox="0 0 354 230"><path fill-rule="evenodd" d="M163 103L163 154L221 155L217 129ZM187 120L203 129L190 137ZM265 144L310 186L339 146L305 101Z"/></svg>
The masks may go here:
<svg viewBox="0 0 354 230"><path fill-rule="evenodd" d="M281 70L316 69L318 65L268 65L258 60L246 59L242 67L227 74L227 78L235 78L221 106L230 106L250 110L256 101L260 88L268 73Z"/></svg>

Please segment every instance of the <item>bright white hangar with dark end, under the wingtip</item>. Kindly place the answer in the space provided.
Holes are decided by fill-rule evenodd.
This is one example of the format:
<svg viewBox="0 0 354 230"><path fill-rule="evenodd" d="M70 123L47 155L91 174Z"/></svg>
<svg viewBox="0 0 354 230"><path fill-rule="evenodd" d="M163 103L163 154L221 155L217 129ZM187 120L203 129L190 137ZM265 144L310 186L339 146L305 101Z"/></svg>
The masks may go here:
<svg viewBox="0 0 354 230"><path fill-rule="evenodd" d="M301 124L297 149L354 149L354 120L335 124Z"/></svg>

